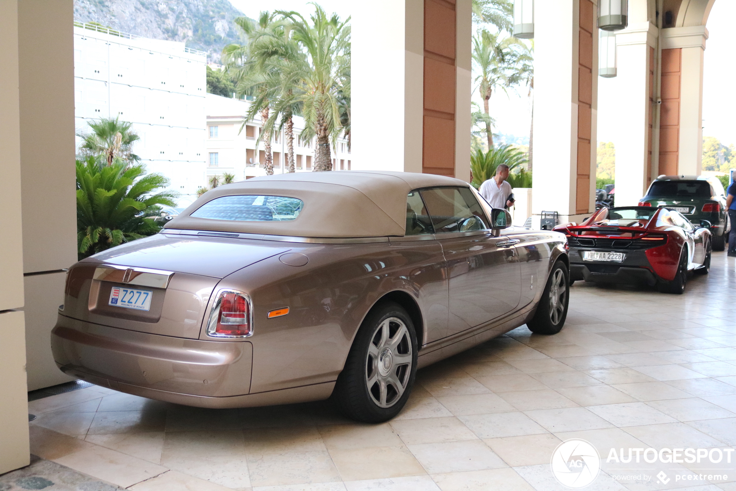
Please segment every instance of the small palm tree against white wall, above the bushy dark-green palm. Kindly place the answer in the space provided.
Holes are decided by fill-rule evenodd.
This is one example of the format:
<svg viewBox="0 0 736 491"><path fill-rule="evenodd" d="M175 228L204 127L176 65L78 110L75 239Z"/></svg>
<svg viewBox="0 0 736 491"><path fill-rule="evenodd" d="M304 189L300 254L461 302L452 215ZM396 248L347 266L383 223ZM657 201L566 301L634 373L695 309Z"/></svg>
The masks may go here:
<svg viewBox="0 0 736 491"><path fill-rule="evenodd" d="M141 138L130 127L132 123L116 119L102 118L99 121L90 121L91 133L77 133L82 138L79 144L79 155L83 157L103 155L107 165L113 165L116 159L128 163L141 160L132 153L132 144Z"/></svg>

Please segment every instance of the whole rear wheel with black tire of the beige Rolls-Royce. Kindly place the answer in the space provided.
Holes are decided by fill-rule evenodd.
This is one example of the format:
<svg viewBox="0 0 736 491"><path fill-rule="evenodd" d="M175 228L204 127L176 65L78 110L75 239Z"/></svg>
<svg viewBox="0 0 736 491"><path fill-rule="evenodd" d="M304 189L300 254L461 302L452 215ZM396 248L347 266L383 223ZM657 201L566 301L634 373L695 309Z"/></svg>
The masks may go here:
<svg viewBox="0 0 736 491"><path fill-rule="evenodd" d="M383 423L403 409L416 375L414 323L397 303L381 303L358 329L333 398L347 417Z"/></svg>

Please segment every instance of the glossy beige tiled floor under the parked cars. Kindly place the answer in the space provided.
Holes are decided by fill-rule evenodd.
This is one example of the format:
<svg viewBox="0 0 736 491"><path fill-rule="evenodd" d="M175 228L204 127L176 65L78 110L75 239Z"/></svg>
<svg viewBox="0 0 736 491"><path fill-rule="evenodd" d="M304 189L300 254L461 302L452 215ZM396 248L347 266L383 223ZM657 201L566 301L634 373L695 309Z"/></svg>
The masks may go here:
<svg viewBox="0 0 736 491"><path fill-rule="evenodd" d="M551 453L573 437L604 461L612 448L731 447L735 266L716 252L682 296L578 282L562 333L518 328L421 370L389 423L329 403L208 410L95 386L30 403L32 451L135 491L548 491L562 489ZM637 466L604 462L587 489L736 490L732 460L713 483L692 480L713 464L646 464L666 485L614 481Z"/></svg>

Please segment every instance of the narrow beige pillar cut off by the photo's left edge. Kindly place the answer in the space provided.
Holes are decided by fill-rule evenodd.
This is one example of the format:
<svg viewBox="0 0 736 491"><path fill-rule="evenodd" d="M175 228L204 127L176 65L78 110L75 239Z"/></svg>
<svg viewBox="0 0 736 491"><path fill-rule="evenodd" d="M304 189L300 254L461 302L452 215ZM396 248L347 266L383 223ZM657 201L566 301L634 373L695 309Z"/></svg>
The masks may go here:
<svg viewBox="0 0 736 491"><path fill-rule="evenodd" d="M40 61L40 60L39 60ZM18 4L0 1L0 474L29 464L23 314Z"/></svg>

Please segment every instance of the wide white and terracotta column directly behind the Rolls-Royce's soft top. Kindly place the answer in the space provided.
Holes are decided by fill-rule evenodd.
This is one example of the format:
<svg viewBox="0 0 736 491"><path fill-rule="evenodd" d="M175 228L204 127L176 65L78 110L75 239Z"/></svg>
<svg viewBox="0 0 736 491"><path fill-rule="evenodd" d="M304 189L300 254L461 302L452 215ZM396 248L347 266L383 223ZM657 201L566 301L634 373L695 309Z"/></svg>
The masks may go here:
<svg viewBox="0 0 736 491"><path fill-rule="evenodd" d="M470 180L470 0L356 2L352 169Z"/></svg>

